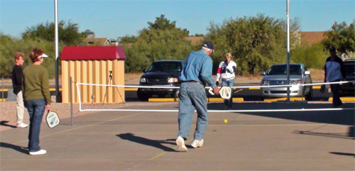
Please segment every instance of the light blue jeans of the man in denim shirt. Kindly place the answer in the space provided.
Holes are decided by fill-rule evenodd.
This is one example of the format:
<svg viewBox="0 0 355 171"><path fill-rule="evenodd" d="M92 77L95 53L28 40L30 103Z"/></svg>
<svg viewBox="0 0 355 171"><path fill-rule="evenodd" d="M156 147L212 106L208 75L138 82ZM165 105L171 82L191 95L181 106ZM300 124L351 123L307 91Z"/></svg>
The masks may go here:
<svg viewBox="0 0 355 171"><path fill-rule="evenodd" d="M194 139L202 140L207 128L207 96L204 86L196 82L182 82L179 93L179 133L185 140L189 137L192 116L197 111Z"/></svg>

